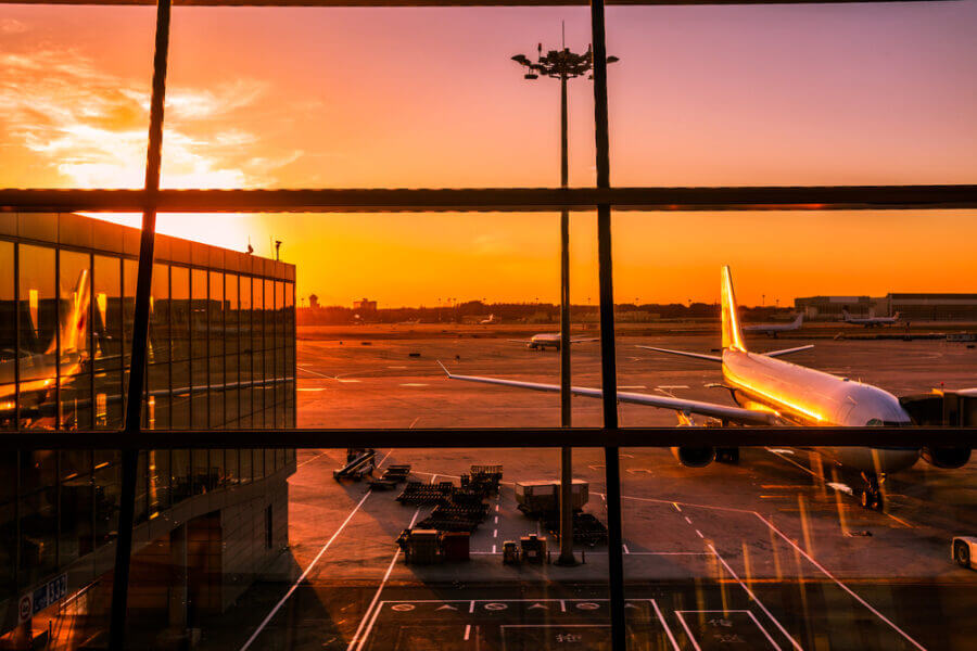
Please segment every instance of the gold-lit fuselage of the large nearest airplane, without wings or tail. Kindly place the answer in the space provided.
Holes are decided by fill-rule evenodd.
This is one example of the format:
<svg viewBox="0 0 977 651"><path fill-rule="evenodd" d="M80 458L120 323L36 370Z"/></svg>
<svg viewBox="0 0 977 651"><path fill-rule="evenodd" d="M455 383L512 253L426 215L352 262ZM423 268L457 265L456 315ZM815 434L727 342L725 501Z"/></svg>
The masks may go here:
<svg viewBox="0 0 977 651"><path fill-rule="evenodd" d="M821 426L911 425L892 394L861 382L737 349L723 352L723 378L741 407L772 411L787 423ZM919 458L912 448L819 447L834 461L888 473Z"/></svg>

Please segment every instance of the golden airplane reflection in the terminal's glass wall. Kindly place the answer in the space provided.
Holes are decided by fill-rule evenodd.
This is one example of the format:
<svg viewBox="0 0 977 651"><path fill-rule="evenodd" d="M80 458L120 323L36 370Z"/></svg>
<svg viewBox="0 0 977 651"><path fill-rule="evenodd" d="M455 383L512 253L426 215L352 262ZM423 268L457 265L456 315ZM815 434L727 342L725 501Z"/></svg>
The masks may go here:
<svg viewBox="0 0 977 651"><path fill-rule="evenodd" d="M78 282L72 292L71 307L62 319L60 335L51 340L43 353L28 353L21 349L4 350L7 355L0 360L0 419L13 418L16 411L15 383L16 368L20 365L20 403L21 413L27 418L38 407L49 403L54 393L58 365L61 374L69 378L78 373L89 359L84 345L88 336L88 314L91 302L91 283L88 269L83 269ZM58 354L58 341L61 340L61 355Z"/></svg>

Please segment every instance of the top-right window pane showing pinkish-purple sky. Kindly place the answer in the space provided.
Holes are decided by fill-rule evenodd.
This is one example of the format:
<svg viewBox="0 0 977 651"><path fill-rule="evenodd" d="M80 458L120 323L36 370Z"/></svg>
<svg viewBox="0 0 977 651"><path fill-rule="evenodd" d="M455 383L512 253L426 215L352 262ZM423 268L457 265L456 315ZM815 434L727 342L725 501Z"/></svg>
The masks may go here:
<svg viewBox="0 0 977 651"><path fill-rule="evenodd" d="M609 8L611 183L973 183L975 15L974 2ZM589 39L573 27L579 51Z"/></svg>

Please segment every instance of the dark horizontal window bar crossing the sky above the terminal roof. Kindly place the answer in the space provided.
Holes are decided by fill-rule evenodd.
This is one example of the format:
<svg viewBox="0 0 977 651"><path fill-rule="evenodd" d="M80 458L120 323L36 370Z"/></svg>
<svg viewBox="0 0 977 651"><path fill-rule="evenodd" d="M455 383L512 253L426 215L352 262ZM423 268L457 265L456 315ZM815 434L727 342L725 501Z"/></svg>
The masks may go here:
<svg viewBox="0 0 977 651"><path fill-rule="evenodd" d="M161 213L424 213L594 210L827 210L977 207L977 186L741 188L479 188L443 190L161 190ZM142 212L142 190L0 190L20 213Z"/></svg>

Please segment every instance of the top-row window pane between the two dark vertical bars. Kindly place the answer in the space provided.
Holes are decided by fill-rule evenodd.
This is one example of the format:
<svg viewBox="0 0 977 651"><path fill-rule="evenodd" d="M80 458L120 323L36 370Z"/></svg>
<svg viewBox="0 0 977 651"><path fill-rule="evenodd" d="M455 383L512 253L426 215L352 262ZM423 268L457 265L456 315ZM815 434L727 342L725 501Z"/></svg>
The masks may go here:
<svg viewBox="0 0 977 651"><path fill-rule="evenodd" d="M167 78L174 89L166 114L172 164L162 183L556 184L559 84L526 81L526 71L510 56L535 53L545 37L546 47L557 48L560 20L574 16L585 47L585 8L304 8L266 14L177 7ZM246 53L239 51L242 42ZM347 65L323 69L313 63L321 61ZM571 106L581 116L574 123L580 151L573 153L587 174L593 91L586 81L576 86ZM436 104L434 97L441 98ZM243 242L251 231L238 228ZM261 255L275 257L268 239L254 241Z"/></svg>

